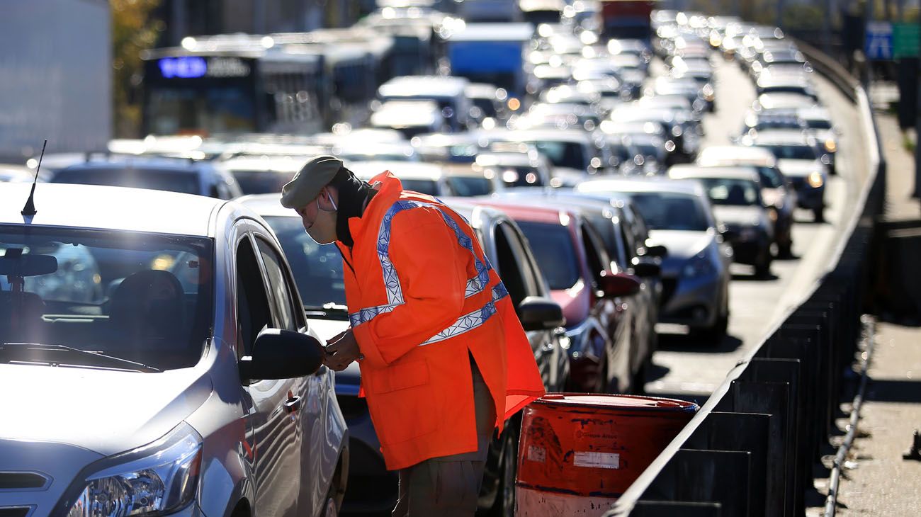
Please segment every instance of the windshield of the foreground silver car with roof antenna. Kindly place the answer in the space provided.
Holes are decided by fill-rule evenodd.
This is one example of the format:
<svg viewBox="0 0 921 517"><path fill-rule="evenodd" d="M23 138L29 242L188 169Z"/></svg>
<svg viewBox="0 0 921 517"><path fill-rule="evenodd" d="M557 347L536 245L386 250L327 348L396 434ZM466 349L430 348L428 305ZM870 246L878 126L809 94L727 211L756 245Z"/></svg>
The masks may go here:
<svg viewBox="0 0 921 517"><path fill-rule="evenodd" d="M59 364L193 366L210 336L212 249L204 237L0 226L0 343L47 345L39 363L57 347L69 352Z"/></svg>

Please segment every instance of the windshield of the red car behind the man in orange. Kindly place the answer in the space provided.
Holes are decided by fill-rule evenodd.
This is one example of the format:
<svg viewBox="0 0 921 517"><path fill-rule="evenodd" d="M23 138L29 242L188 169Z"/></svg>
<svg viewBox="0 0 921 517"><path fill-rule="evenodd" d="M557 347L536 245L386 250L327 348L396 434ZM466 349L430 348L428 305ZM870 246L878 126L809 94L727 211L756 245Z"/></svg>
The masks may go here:
<svg viewBox="0 0 921 517"><path fill-rule="evenodd" d="M580 275L569 229L559 224L527 221L518 224L550 288L557 291L576 285Z"/></svg>

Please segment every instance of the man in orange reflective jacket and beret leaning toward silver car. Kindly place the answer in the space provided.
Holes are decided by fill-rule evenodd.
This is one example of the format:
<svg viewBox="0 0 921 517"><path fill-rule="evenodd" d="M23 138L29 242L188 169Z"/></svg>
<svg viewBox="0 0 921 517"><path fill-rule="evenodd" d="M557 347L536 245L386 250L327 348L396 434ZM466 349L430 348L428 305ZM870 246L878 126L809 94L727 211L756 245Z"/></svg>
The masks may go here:
<svg viewBox="0 0 921 517"><path fill-rule="evenodd" d="M343 255L351 327L326 364L361 369L395 516L476 511L493 431L544 393L505 286L467 222L384 172L318 156L282 190L309 236Z"/></svg>

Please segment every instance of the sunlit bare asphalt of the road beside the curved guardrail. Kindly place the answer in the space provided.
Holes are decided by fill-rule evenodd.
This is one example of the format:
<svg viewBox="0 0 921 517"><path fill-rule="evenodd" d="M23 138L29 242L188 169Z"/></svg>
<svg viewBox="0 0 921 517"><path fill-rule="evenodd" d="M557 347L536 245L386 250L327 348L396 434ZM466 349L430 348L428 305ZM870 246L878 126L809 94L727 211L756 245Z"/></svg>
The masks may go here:
<svg viewBox="0 0 921 517"><path fill-rule="evenodd" d="M730 144L729 138L739 132L752 106L755 91L737 63L719 56L714 56L713 63L717 111L705 116L705 145ZM654 74L657 68L654 66ZM729 334L721 342L703 342L688 336L682 327L660 325L659 350L647 373L646 390L650 395L702 403L746 351L766 337L787 308L799 302L832 259L849 210L856 205L867 177L867 151L855 106L822 76L815 74L814 78L822 102L843 132L836 158L838 176L830 177L825 190L826 222L813 223L810 212L798 210L793 228L794 258L775 260L771 278L756 280L752 268L732 266Z"/></svg>

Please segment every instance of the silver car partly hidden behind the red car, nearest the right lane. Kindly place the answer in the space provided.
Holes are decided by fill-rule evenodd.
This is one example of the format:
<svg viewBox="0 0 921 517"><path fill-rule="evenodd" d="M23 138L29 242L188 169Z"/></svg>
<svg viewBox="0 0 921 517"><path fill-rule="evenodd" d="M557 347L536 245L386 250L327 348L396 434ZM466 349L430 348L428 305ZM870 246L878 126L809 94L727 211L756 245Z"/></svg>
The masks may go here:
<svg viewBox="0 0 921 517"><path fill-rule="evenodd" d="M649 243L668 248L662 259L659 321L686 325L720 340L729 324L732 248L717 230L710 202L695 181L668 178L598 179L577 191L629 197L649 227Z"/></svg>

